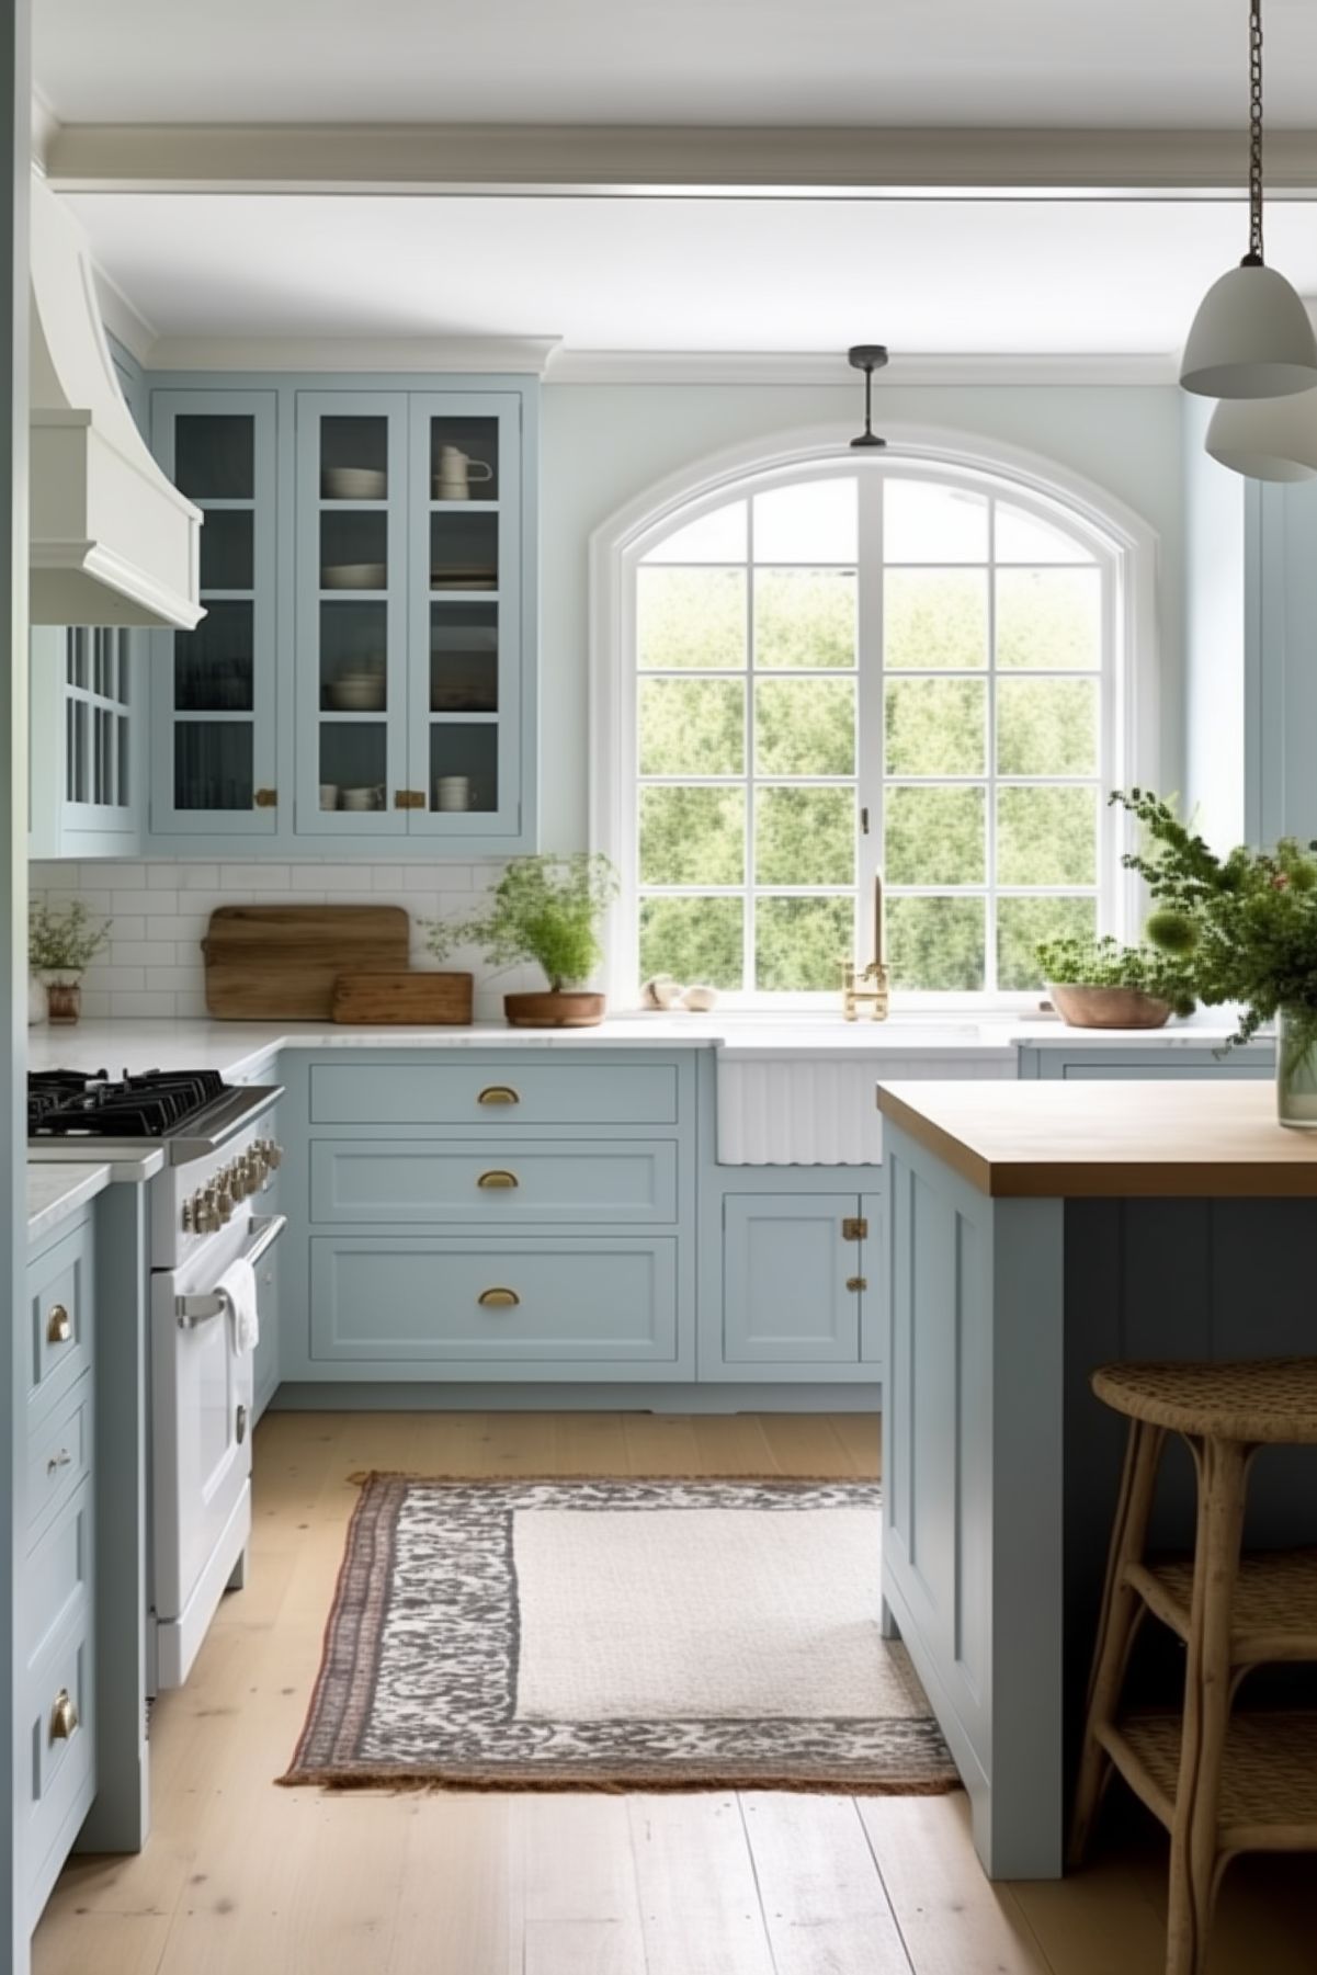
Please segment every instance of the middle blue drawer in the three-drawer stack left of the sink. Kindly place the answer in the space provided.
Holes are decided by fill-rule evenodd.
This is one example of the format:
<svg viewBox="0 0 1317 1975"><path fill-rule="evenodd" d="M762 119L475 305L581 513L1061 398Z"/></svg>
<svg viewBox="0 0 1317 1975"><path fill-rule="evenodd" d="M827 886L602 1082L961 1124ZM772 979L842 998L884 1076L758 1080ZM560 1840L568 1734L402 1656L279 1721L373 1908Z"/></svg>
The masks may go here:
<svg viewBox="0 0 1317 1975"><path fill-rule="evenodd" d="M500 1140L312 1142L312 1221L646 1223L677 1219L677 1147Z"/></svg>

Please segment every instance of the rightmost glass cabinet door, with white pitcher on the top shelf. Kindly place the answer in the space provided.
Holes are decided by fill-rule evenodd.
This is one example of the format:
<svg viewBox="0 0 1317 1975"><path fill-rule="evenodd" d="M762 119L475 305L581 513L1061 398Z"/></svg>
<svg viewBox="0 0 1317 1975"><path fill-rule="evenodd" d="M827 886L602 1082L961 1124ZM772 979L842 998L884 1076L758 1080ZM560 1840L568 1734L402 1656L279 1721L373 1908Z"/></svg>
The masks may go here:
<svg viewBox="0 0 1317 1975"><path fill-rule="evenodd" d="M411 399L409 828L513 835L521 749L519 399Z"/></svg>

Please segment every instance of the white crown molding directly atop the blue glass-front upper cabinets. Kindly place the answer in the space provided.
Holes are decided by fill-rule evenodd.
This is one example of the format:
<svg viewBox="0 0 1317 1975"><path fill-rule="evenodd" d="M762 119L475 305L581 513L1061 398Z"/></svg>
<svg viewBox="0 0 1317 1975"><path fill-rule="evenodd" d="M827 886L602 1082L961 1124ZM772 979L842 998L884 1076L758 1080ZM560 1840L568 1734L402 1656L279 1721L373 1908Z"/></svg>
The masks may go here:
<svg viewBox="0 0 1317 1975"><path fill-rule="evenodd" d="M468 371L543 377L557 344L557 336L154 336L146 354L134 350L134 356L156 371Z"/></svg>

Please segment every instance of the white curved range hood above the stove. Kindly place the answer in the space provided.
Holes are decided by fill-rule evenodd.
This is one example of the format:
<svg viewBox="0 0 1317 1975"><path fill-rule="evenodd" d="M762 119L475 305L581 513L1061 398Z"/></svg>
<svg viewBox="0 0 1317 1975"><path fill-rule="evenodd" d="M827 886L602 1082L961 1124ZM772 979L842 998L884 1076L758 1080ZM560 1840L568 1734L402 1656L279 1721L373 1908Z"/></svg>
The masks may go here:
<svg viewBox="0 0 1317 1975"><path fill-rule="evenodd" d="M32 622L194 630L201 512L122 401L87 241L32 186Z"/></svg>

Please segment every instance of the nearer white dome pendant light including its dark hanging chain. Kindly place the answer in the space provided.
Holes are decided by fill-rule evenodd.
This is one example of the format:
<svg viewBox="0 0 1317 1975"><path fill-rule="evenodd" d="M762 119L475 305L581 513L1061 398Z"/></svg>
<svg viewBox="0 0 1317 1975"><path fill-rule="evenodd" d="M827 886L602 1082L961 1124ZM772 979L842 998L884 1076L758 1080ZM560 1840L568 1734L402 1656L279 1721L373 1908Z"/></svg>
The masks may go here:
<svg viewBox="0 0 1317 1975"><path fill-rule="evenodd" d="M1285 397L1317 385L1303 300L1262 259L1262 0L1248 4L1248 253L1193 318L1181 383L1202 397Z"/></svg>

